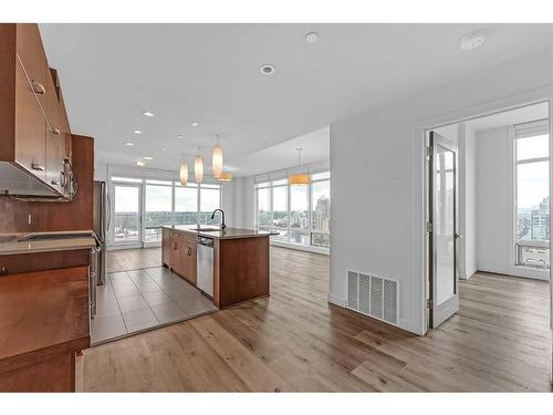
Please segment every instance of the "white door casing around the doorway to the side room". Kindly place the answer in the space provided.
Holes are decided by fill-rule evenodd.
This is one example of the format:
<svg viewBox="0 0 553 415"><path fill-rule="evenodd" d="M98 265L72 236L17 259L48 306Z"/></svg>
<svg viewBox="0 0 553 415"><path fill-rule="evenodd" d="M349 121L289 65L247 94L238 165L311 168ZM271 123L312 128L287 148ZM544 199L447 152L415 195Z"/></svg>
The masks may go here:
<svg viewBox="0 0 553 415"><path fill-rule="evenodd" d="M415 138L415 154L419 163L414 164L414 177L422 179L424 191L419 194L420 203L422 205L421 217L419 212L413 212L413 243L419 246L420 249L413 251L413 263L421 263L421 274L424 276L422 291L420 292L420 312L422 313L424 333L429 330L428 325L428 238L426 236L426 221L428 212L428 177L426 166L426 146L427 146L427 132L451 124L463 123L472 118L497 114L509 110L515 110L521 106L539 104L546 102L549 104L549 118L550 118L550 160L553 160L553 85L544 86L520 94L510 95L502 98L488 101L478 105L458 108L451 112L415 121L414 138ZM550 195L553 195L553 168L550 164ZM418 229L418 231L417 231ZM550 215L550 229L553 229L553 216ZM422 240L420 240L422 237ZM421 261L420 261L421 259ZM553 249L550 249L550 263L553 263ZM550 268L550 381L553 384L553 281L552 271Z"/></svg>

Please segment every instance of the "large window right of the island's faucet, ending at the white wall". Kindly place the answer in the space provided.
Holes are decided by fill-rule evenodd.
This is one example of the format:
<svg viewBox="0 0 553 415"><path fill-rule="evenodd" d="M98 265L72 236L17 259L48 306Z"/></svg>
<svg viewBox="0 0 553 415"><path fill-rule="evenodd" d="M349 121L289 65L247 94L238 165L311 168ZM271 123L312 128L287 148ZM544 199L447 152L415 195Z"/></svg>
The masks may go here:
<svg viewBox="0 0 553 415"><path fill-rule="evenodd" d="M310 185L289 186L288 180L257 185L255 225L272 230L275 240L330 247L331 175L311 176Z"/></svg>

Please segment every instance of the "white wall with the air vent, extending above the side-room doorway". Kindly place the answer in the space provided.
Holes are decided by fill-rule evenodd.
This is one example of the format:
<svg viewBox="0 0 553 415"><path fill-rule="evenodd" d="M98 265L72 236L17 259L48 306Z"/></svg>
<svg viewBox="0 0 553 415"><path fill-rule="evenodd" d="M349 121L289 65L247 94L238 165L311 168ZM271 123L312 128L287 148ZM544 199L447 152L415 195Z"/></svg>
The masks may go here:
<svg viewBox="0 0 553 415"><path fill-rule="evenodd" d="M515 94L532 96L532 90L553 85L552 63L549 50L331 125L331 302L346 303L348 269L395 279L399 326L426 332L425 154L419 128L448 113L450 122L476 115L468 108L494 100L507 104Z"/></svg>

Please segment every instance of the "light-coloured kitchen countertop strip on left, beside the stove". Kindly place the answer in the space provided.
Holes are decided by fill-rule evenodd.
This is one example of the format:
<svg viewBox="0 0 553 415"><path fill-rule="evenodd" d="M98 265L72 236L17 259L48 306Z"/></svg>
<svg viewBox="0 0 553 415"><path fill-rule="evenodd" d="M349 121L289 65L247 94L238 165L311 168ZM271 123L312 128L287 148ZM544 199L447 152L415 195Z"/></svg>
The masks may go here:
<svg viewBox="0 0 553 415"><path fill-rule="evenodd" d="M33 234L0 234L0 256L35 252L70 251L77 249L91 249L96 246L96 240L92 237L86 238L66 238L48 240L20 240L23 237L35 234L82 234L83 230L62 231L62 232L33 232ZM86 232L92 232L86 230ZM9 239L12 240L9 240ZM9 240L1 242L1 240Z"/></svg>

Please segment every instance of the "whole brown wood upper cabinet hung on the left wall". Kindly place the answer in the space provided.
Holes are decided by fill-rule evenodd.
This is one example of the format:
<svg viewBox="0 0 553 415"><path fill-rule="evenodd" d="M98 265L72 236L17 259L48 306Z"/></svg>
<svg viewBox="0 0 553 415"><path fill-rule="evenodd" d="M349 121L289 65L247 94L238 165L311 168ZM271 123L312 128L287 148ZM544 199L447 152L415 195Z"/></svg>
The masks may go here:
<svg viewBox="0 0 553 415"><path fill-rule="evenodd" d="M0 24L0 162L12 166L11 183L0 177L0 191L69 197L64 159L71 163L71 129L36 24ZM0 168L8 170L6 164ZM40 185L25 186L29 175Z"/></svg>

